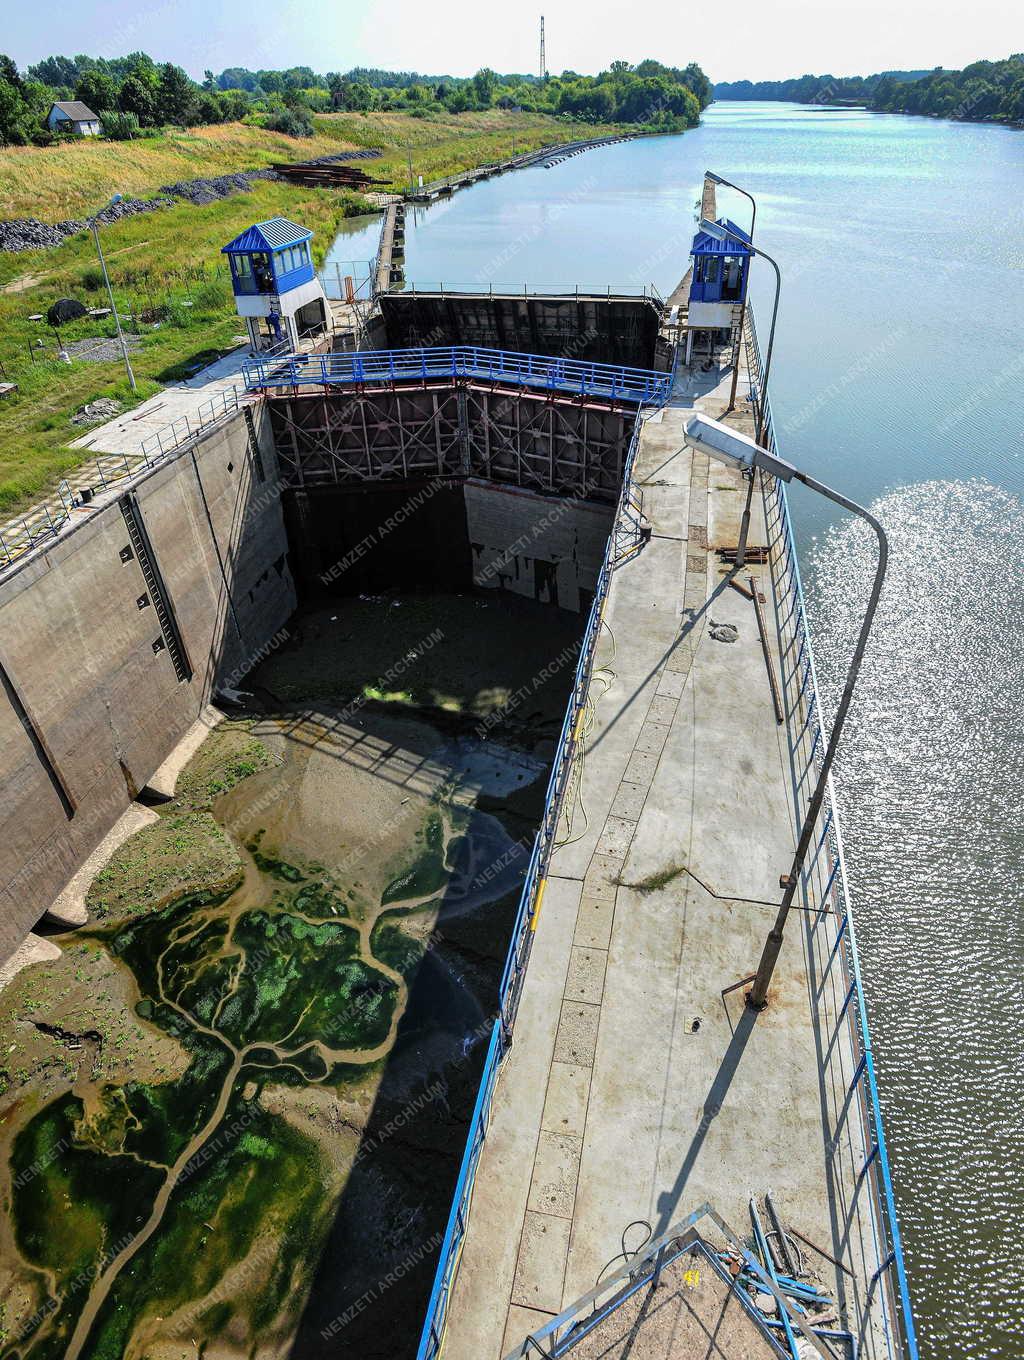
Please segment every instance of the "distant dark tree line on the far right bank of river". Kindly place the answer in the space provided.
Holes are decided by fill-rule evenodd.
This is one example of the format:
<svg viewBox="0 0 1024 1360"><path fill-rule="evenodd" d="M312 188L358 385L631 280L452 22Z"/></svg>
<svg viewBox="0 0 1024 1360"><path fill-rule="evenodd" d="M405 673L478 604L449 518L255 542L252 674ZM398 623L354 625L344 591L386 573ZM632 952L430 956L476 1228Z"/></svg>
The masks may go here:
<svg viewBox="0 0 1024 1360"><path fill-rule="evenodd" d="M728 80L715 99L783 99L793 103L864 103L884 113L1024 124L1024 56L975 61L963 71L880 71L873 76L797 76Z"/></svg>

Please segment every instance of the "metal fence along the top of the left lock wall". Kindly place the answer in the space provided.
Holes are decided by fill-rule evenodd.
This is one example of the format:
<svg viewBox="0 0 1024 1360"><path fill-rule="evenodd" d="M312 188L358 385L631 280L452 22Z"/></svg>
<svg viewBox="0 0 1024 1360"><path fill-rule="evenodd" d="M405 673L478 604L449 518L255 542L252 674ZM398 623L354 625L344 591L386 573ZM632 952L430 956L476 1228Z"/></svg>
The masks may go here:
<svg viewBox="0 0 1024 1360"><path fill-rule="evenodd" d="M204 401L189 415L180 416L165 428L147 435L135 453L97 453L87 458L75 469L73 486L65 477L57 486L54 496L0 526L0 573L41 543L56 539L69 524L76 507L87 505L94 495L101 495L155 466L160 458L180 449L182 443L194 439L226 415L237 411L243 397L245 393L233 386Z"/></svg>

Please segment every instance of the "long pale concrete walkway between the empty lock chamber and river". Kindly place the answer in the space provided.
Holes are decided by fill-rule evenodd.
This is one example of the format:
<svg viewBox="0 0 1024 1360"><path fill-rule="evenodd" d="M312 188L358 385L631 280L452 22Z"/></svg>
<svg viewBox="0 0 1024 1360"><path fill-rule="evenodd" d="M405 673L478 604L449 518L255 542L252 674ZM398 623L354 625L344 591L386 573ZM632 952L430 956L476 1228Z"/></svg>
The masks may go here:
<svg viewBox="0 0 1024 1360"><path fill-rule="evenodd" d="M813 1240L849 1246L835 1176L864 1148L847 1121L847 1159L827 1164L802 921L770 1009L755 1017L738 986L774 917L794 816L753 605L714 593L714 549L736 544L744 484L680 452L694 405L718 416L728 403L729 375L715 378L707 390L707 375L683 374L643 431L653 537L612 581L582 806L552 860L445 1360L496 1360L594 1285L626 1229L635 1247L703 1201L745 1235L748 1200L767 1190ZM766 544L759 499L751 545ZM752 571L771 620L770 568ZM714 639L723 623L737 641ZM862 1255L861 1291L874 1268Z"/></svg>

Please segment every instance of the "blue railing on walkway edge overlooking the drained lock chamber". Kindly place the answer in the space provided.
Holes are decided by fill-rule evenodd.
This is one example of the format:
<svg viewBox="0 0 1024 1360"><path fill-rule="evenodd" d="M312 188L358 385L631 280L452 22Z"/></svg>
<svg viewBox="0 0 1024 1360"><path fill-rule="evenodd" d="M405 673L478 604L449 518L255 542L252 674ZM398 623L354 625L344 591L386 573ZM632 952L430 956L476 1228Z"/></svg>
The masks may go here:
<svg viewBox="0 0 1024 1360"><path fill-rule="evenodd" d="M636 461L636 449L639 447L642 427L643 415L638 413L632 431L632 439L630 441L630 447L626 456L626 464L623 466L623 484L619 495L616 520L623 513L623 506L630 495L630 480L632 477L634 462ZM506 956L505 971L502 972L502 982L498 993L499 1015L494 1023L487 1050L487 1059L480 1077L480 1093L477 1096L473 1118L469 1125L466 1148L462 1155L462 1164L456 1182L451 1212L449 1214L445 1240L441 1247L441 1258L438 1261L437 1274L434 1276L434 1288L427 1306L427 1318L423 1325L416 1360L435 1360L435 1357L441 1353L445 1337L451 1285L458 1269L458 1258L462 1254L462 1242L465 1240L466 1221L469 1216L469 1201L473 1194L476 1168L480 1161L480 1152L483 1151L484 1138L487 1136L487 1123L491 1115L491 1098L498 1078L498 1069L511 1043L515 1012L519 1006L522 983L526 976L526 966L533 947L533 934L544 898L548 865L551 862L551 853L555 847L555 834L562 815L562 802L568 785L573 762L579 747L579 728L590 687L590 670L593 666L594 651L597 650L597 639L601 632L604 605L608 598L608 588L611 585L613 570L615 534L612 533L608 539L608 548L605 549L604 562L601 563L594 598L586 622L583 642L579 649L579 660L573 679L573 694L566 707L562 734L559 736L555 762L548 781L547 797L544 800L544 817L533 842L533 853L530 854L526 879L524 880L522 892L519 895L515 925L513 928L513 936L509 944L509 953Z"/></svg>

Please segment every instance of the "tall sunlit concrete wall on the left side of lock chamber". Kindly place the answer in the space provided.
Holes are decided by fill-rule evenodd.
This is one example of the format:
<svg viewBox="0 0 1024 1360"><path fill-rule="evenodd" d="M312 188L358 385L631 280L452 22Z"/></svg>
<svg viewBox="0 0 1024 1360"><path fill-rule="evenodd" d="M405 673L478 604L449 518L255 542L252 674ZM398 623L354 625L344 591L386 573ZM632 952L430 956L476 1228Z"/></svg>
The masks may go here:
<svg viewBox="0 0 1024 1360"><path fill-rule="evenodd" d="M0 582L0 957L295 608L261 405L135 484L192 677L162 638L121 498Z"/></svg>

